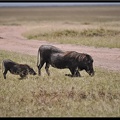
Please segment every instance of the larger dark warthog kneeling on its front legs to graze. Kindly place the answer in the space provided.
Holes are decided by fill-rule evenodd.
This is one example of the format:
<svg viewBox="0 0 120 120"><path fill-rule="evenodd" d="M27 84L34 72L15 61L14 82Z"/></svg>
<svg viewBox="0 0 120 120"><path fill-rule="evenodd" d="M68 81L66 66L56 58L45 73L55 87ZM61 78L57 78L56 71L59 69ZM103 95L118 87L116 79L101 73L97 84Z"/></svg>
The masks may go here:
<svg viewBox="0 0 120 120"><path fill-rule="evenodd" d="M41 45L37 55L38 75L41 75L41 68L44 63L46 63L45 69L48 75L50 75L50 65L59 69L68 68L72 77L81 76L79 73L81 70L85 70L90 76L94 75L93 59L85 53L64 52L55 46Z"/></svg>

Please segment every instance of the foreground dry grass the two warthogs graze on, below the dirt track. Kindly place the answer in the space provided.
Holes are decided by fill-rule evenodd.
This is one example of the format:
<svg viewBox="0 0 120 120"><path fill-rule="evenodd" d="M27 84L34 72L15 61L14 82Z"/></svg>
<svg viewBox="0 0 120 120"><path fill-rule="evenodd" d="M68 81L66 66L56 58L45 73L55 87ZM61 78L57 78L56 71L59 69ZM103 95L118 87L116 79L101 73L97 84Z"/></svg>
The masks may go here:
<svg viewBox="0 0 120 120"><path fill-rule="evenodd" d="M35 69L36 56L0 51L0 62L12 59ZM42 68L41 76L0 74L1 117L120 117L119 72L95 68L95 76L81 71L82 77L65 76L68 69ZM1 70L1 67L0 67Z"/></svg>

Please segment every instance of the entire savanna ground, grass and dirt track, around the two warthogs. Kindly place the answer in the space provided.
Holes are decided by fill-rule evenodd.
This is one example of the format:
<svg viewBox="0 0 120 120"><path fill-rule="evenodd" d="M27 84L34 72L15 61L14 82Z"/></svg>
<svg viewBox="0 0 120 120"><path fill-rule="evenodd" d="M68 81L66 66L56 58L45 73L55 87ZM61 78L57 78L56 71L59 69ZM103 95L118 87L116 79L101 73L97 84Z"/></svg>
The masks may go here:
<svg viewBox="0 0 120 120"><path fill-rule="evenodd" d="M0 74L1 117L120 117L120 7L0 8L0 62L9 58L37 72L42 44L90 54L95 76ZM2 69L2 67L0 67Z"/></svg>

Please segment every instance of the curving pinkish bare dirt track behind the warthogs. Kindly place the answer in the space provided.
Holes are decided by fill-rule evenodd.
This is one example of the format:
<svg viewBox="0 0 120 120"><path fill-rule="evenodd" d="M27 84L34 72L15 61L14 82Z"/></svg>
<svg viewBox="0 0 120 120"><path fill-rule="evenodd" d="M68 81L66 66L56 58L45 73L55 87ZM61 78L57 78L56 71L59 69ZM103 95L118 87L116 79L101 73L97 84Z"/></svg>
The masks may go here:
<svg viewBox="0 0 120 120"><path fill-rule="evenodd" d="M94 48L80 45L57 44L39 40L27 40L21 34L28 28L25 26L0 26L0 50L15 51L37 56L42 44L51 44L62 50L75 50L90 54L94 59L94 66L108 70L120 71L120 49Z"/></svg>

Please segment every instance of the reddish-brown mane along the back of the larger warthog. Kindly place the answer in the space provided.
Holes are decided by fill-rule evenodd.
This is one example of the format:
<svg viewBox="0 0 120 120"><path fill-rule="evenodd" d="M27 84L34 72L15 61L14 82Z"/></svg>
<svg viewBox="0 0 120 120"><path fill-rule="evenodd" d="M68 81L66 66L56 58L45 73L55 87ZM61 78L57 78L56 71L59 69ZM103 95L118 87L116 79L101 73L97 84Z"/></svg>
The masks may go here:
<svg viewBox="0 0 120 120"><path fill-rule="evenodd" d="M76 51L67 51L64 53L64 57L73 58L75 60L83 60L87 54L85 53L78 53Z"/></svg>

